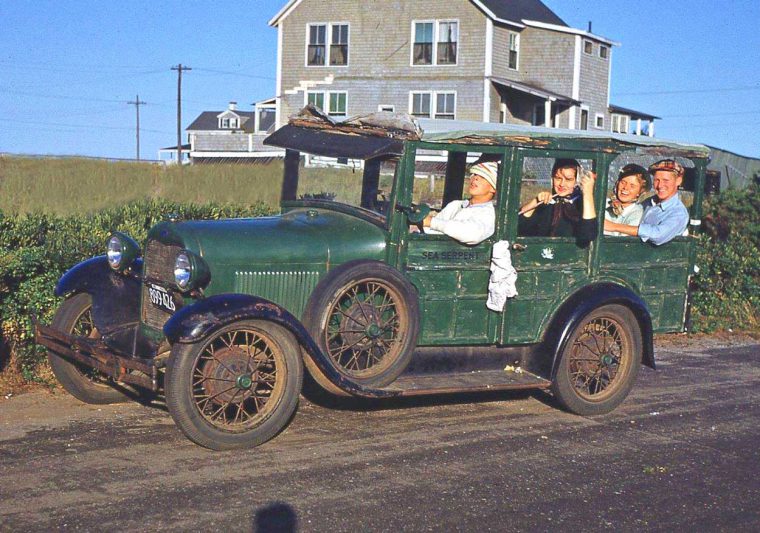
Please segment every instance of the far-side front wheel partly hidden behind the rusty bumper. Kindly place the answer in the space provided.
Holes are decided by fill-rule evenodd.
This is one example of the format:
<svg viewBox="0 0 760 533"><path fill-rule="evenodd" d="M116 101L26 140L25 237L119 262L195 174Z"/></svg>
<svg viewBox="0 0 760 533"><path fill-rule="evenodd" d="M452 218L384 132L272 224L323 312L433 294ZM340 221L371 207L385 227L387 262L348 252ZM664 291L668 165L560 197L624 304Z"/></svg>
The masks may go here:
<svg viewBox="0 0 760 533"><path fill-rule="evenodd" d="M100 338L92 318L92 298L86 293L75 294L64 300L51 325L69 335ZM128 399L112 386L113 381L102 372L68 361L51 350L48 350L48 362L58 382L78 400L92 404L108 404Z"/></svg>

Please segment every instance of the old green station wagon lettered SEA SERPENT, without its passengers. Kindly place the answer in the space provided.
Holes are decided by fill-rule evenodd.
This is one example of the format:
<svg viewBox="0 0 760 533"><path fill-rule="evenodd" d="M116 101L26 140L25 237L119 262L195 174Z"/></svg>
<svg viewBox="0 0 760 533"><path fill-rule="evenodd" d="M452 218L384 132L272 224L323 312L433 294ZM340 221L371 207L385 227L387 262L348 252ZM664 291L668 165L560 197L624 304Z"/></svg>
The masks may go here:
<svg viewBox="0 0 760 533"><path fill-rule="evenodd" d="M300 346L300 353L294 356L296 360L303 359L318 383L339 394L379 398L405 393L535 386L552 387L561 403L575 412L593 414L617 405L630 389L638 364L654 366L652 334L683 331L686 326L706 149L631 135L461 123L442 127L440 121L422 121L421 124L422 130L419 124L410 126L397 118L383 117L380 125L367 121L336 125L314 110L306 110L268 140L286 149L280 215L222 221L170 220L158 224L150 230L142 261L135 261L125 270L108 269L104 266L105 260L97 263L91 260L86 267L80 265L73 269L59 284L60 294L90 294L93 323L103 333L100 344L82 344L67 351L60 343L50 340L53 334L44 327L38 328L38 339L51 350L52 357L93 367L110 380L153 390L166 388L170 407L182 404L182 395L187 392L176 387L174 392L169 390L167 379L179 382L178 377L171 377L178 376L178 370L172 366L190 365L187 372L192 376L200 372L202 379L211 379L208 376L213 372L217 372L214 375L232 372L216 366L212 372L209 368L216 363L203 363L205 356L186 355L186 352L195 353L194 347L213 348L208 339L222 334L228 335L225 339L232 339L228 344L234 344L224 348L224 353L240 352L242 348L236 344L236 337L224 332L230 328L237 331L235 324L251 323L253 325L246 327L253 329L245 329L246 335L262 331L266 336L266 327L261 324L267 321L276 330L273 345L290 342L279 342L277 335L291 335L293 344ZM337 158L343 165L361 161L360 201L349 205L319 197L299 198L299 170L304 165L301 152ZM603 236L604 202L611 192L607 189L614 181L613 167L621 161L619 158L665 156L688 162L693 190L689 235L676 237L663 246L653 246L633 237ZM499 164L494 235L480 244L467 246L445 235L410 231L410 224L417 222L415 175L419 176L421 161L426 157L432 161L427 163L428 167L445 167L438 170L445 181L443 203L461 198L465 169L474 157ZM526 169L546 160L567 157L583 161L597 175L597 238L588 245L579 245L572 238L519 235L517 211L522 203L521 193L525 196L521 188L527 187L530 181L526 181L526 175L530 174ZM392 163L390 167L389 163ZM385 169L384 179L390 180L390 190L382 195L377 191L381 168ZM499 241L511 243L511 259L517 271L517 295L507 301L501 312L485 305L492 249ZM180 264L178 254L183 254L186 261ZM181 266L180 270L184 268L184 275L189 279L184 290L176 281L181 277L175 279L177 265ZM85 268L89 269L87 275ZM82 279L88 276L103 281L87 285ZM331 291L338 291L342 296L333 298ZM376 294L383 295L379 304L373 303L373 298L378 298ZM354 298L353 303L341 307L343 304L339 302L343 297ZM127 303L116 307L108 303L113 299ZM323 313L320 306L336 312ZM386 313L387 308L392 311L393 325L386 339L383 327L389 328L384 324L390 322L384 323L379 315ZM597 317L599 309L609 311L609 316ZM372 320L367 317L369 314L373 315ZM620 369L612 372L626 376L625 390L616 392L609 401L606 393L598 395L599 405L608 402L611 407L606 404L595 407L596 398L590 393L584 411L583 406L576 406L572 400L564 401L562 396L566 391L556 384L561 381L557 376L564 372L563 354L569 350L568 343L577 344L583 335L602 338L602 333L595 331L610 321L620 330L615 333L617 337L612 337L622 339L618 342L620 350L632 354L633 363L625 372ZM340 333L330 333L333 322L338 324ZM354 325L358 328L358 333L353 333L356 335L354 345L380 348L367 348L370 356L367 356L366 368L352 371L349 366L354 362L345 363L340 351L335 355L329 346L338 335L344 343L339 347L355 352L357 348L345 340L351 335L347 332L353 331L346 324L360 322L361 327ZM581 331L585 333L579 333ZM392 346L388 347L389 344ZM468 383L454 386L449 382L425 381L427 377L416 381L396 380L409 364L415 348L447 353L446 350L457 347L467 352L468 357L475 353L475 358L479 349L484 354L501 354L508 353L510 348L523 347L529 355L512 360L521 364L535 381L518 379L510 385L497 380L496 384L490 384L478 383L477 377L469 377ZM250 346L248 350L250 352ZM376 353L373 350L380 354L376 362L372 362ZM386 355L403 352L403 357L399 355L399 362L391 361L393 364L388 366L382 361L385 355L381 352ZM183 362L193 357L194 363ZM219 365L234 366L230 361L237 359L232 355L225 357L228 357L226 365ZM354 355L354 359L356 357ZM497 359L503 363L503 357ZM293 359L287 363L283 362L285 359L277 361L271 365L281 372L287 367L291 374L292 366L300 365ZM341 368L341 365L348 366ZM372 365L382 368L383 375L374 375ZM610 372L609 365L604 368ZM233 389L236 395L240 393L243 397L256 388L255 385L252 388L251 380L255 382L258 374L247 370L239 374L233 380ZM606 381L614 382L614 376ZM600 387L598 383L595 386ZM277 387L274 390L278 390ZM205 397L211 395L208 391L204 394ZM270 391L266 397L274 394ZM298 391L295 394L297 397ZM238 398L230 402L238 411L243 409L244 400ZM269 415L261 415L264 421L251 422L247 429L233 432L258 435L252 437L253 440L246 441L243 437L225 440L225 431L239 425L237 415L230 422L225 414L224 421L217 423L219 421L214 422L208 414L203 414L199 403L193 403L192 399L185 403L185 415L174 412L172 415L192 440L208 447L222 449L241 447L246 442L257 444L281 429L265 427ZM175 409L181 410L180 407ZM201 419L205 421L182 422L183 416L192 418L192 413L197 415L196 411L201 412Z"/></svg>

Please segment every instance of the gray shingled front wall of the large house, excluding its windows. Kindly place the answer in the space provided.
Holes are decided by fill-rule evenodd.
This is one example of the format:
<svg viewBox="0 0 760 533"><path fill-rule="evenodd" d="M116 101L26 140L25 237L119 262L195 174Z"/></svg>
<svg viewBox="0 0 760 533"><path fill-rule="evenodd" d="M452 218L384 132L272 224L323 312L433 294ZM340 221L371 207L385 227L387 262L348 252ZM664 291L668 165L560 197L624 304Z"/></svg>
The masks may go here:
<svg viewBox="0 0 760 533"><path fill-rule="evenodd" d="M412 21L444 19L459 22L457 65L411 66ZM306 67L308 24L341 22L349 23L348 66ZM410 90L432 89L457 92L457 118L482 119L486 18L469 0L304 0L281 24L282 120L304 103L303 90L286 91L331 74L333 83L308 90L347 90L348 115L374 111L378 104L407 111Z"/></svg>

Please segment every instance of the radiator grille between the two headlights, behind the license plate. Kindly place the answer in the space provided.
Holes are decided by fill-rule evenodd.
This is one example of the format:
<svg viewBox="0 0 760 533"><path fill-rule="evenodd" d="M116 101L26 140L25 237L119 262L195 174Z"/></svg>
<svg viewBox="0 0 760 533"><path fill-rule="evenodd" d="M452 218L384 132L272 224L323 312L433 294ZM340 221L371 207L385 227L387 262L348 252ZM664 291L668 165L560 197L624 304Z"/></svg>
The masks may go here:
<svg viewBox="0 0 760 533"><path fill-rule="evenodd" d="M142 289L141 316L143 323L152 328L161 329L164 327L164 323L171 314L150 303L147 283L158 283L168 289L174 297L177 309L179 310L182 307L182 295L172 290L174 286L174 260L180 250L179 246L162 244L158 241L148 241L148 246L145 248L143 267L145 283Z"/></svg>

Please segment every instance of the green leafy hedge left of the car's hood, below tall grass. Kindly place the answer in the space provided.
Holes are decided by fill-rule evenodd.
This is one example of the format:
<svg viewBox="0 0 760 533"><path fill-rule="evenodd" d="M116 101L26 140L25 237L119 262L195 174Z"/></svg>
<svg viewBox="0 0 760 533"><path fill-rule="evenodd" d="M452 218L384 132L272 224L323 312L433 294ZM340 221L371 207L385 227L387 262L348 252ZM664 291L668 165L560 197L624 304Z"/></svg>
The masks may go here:
<svg viewBox="0 0 760 533"><path fill-rule="evenodd" d="M144 242L148 230L169 214L186 219L219 219L270 214L263 204L252 207L178 204L146 200L87 215L5 215L0 212L0 321L2 340L17 369L35 380L44 352L32 343L30 315L49 321L60 303L53 288L76 263L103 254L112 231ZM4 366L0 361L0 369Z"/></svg>

